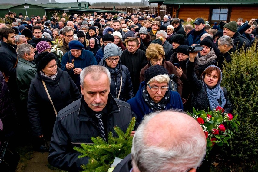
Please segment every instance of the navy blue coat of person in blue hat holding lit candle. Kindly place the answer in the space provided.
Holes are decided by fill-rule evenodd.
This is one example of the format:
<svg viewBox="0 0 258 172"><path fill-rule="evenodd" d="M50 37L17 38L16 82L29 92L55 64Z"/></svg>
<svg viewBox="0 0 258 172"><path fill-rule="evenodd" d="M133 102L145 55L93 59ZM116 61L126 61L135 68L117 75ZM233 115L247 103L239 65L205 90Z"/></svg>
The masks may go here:
<svg viewBox="0 0 258 172"><path fill-rule="evenodd" d="M65 55L63 56L62 61L61 61L61 69L63 71L68 72L68 74L71 76L72 80L74 81L74 83L76 84L78 89L80 90L81 89L80 75L74 74L74 71L73 71L74 68L68 70L65 67L67 62L72 63L73 59L74 59L74 68L84 69L87 66L98 65L98 64L97 64L96 58L94 57L94 54L89 50L82 50L81 55L78 58L75 58L70 51L65 53Z"/></svg>

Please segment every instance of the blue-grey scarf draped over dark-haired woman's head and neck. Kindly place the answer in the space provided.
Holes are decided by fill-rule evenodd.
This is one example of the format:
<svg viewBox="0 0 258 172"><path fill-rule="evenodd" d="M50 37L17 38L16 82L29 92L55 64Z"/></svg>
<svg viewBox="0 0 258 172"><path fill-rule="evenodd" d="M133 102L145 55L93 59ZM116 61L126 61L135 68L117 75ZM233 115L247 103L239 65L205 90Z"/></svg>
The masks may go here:
<svg viewBox="0 0 258 172"><path fill-rule="evenodd" d="M214 65L211 65L209 67L216 67L216 68L218 68L217 66L214 66ZM207 68L209 68L209 67L207 67ZM220 68L218 68L218 69L220 70ZM221 72L221 70L220 70L220 75L221 75L220 81L218 81L216 87L213 88L212 90L210 90L208 88L208 86L204 83L204 81L203 81L204 80L204 76L203 76L203 80L202 80L203 81L203 86L206 89L206 93L207 93L207 96L208 96L208 99L209 99L210 110L216 109L218 106L223 108L225 106L225 104L226 104L226 99L225 99L224 92L223 92L223 90L220 87L220 83L221 83L221 79L222 79L222 72ZM219 102L218 102L218 100L220 98L221 98L221 104L219 104Z"/></svg>

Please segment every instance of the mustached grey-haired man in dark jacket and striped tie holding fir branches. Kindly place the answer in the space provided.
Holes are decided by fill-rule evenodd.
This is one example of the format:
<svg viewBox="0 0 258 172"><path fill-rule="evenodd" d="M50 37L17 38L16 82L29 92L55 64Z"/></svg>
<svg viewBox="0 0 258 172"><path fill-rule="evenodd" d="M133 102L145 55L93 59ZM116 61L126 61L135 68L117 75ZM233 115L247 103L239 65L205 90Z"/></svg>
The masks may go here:
<svg viewBox="0 0 258 172"><path fill-rule="evenodd" d="M107 141L110 131L117 137L113 128L117 126L125 132L135 116L128 103L110 94L111 78L107 68L88 66L80 77L83 96L59 111L48 156L49 164L72 172L82 171L81 164L89 160L89 157L78 158L81 154L73 150L74 146L92 144L91 137L97 136Z"/></svg>

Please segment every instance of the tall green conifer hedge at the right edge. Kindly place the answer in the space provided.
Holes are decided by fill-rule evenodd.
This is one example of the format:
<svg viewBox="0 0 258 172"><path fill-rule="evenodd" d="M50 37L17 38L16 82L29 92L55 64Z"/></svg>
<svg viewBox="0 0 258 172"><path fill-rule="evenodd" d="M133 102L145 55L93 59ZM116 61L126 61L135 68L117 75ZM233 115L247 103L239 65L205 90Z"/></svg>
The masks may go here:
<svg viewBox="0 0 258 172"><path fill-rule="evenodd" d="M256 45L256 42L254 43ZM230 142L225 154L233 162L246 162L244 171L258 170L258 51L252 46L246 52L232 55L232 63L223 68L222 85L227 88L233 104L233 116L238 115L241 126L234 131L236 136ZM246 165L245 165L246 166Z"/></svg>

